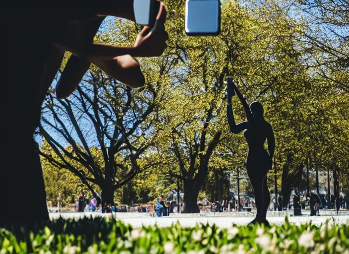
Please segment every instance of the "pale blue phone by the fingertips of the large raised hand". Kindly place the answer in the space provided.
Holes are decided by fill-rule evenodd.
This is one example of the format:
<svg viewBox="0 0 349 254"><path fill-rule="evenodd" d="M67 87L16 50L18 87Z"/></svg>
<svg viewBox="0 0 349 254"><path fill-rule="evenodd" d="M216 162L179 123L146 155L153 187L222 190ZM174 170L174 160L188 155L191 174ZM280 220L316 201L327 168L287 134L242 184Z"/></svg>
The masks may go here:
<svg viewBox="0 0 349 254"><path fill-rule="evenodd" d="M137 24L153 27L159 12L157 0L133 0L134 17Z"/></svg>

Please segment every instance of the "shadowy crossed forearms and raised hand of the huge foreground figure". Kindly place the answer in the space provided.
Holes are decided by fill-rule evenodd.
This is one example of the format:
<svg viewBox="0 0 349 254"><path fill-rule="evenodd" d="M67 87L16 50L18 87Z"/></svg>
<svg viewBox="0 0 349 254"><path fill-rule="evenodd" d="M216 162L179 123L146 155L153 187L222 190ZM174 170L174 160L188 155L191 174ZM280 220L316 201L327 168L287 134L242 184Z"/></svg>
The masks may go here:
<svg viewBox="0 0 349 254"><path fill-rule="evenodd" d="M166 40L169 38L165 31L165 4L159 2L158 5L160 7L153 29L145 26L138 34L133 47L90 43L98 30L100 24L98 20L91 23L67 24L65 30L67 32L57 35L58 40L52 41L52 44L59 49L68 50L74 54L60 76L56 86L56 97L58 99L68 97L76 89L91 63L126 85L133 88L143 86L143 73L133 57L160 56L167 47ZM108 14L115 15L115 13L113 8L108 9Z"/></svg>

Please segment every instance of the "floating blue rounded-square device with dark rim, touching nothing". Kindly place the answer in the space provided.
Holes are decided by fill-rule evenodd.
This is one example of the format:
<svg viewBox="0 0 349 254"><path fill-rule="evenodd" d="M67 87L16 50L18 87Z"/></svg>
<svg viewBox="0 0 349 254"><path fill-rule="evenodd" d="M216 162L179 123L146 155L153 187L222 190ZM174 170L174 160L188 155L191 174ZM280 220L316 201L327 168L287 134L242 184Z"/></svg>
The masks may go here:
<svg viewBox="0 0 349 254"><path fill-rule="evenodd" d="M185 33L187 35L217 36L220 32L220 0L185 1Z"/></svg>

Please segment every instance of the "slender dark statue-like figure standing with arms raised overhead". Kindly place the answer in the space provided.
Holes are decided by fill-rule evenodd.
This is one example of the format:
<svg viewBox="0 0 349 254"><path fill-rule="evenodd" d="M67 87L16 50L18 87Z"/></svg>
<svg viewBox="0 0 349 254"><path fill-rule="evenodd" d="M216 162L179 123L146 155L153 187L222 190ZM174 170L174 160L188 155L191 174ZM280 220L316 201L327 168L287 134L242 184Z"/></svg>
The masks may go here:
<svg viewBox="0 0 349 254"><path fill-rule="evenodd" d="M272 169L272 158L275 151L275 138L272 126L265 121L263 116L263 106L259 102L252 102L249 106L233 82L233 78L228 77L228 103L227 117L230 131L234 134L244 131L244 136L248 144L246 158L246 171L251 181L257 214L252 224L264 223L270 203L270 192L267 185L267 173ZM237 95L246 113L247 121L235 124L233 115L232 97ZM268 140L268 150L264 148L264 143Z"/></svg>

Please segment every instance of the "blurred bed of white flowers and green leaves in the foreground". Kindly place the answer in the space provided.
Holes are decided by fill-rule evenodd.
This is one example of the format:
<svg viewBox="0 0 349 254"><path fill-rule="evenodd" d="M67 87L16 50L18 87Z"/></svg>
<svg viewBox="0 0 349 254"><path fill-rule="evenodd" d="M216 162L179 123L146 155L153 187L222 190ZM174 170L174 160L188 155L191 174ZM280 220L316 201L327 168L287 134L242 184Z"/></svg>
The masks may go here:
<svg viewBox="0 0 349 254"><path fill-rule="evenodd" d="M0 229L0 254L5 253L345 253L349 254L349 224L328 221L321 227L236 226L220 229L197 225L181 228L132 229L103 218L79 221L58 219L43 229L26 233L13 227Z"/></svg>

